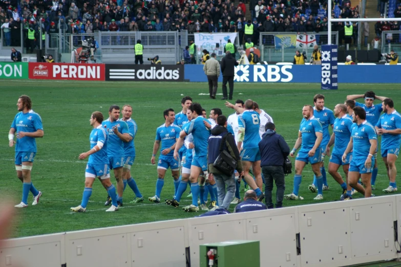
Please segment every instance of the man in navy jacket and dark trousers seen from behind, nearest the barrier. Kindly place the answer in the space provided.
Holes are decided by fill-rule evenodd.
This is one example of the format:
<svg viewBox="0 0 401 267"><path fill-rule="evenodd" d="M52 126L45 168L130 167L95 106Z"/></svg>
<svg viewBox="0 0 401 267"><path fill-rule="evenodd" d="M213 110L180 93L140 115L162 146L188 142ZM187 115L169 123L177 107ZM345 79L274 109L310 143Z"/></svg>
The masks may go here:
<svg viewBox="0 0 401 267"><path fill-rule="evenodd" d="M261 155L262 173L265 177L265 196L268 209L274 208L271 200L273 180L276 182L276 208L283 206L285 182L284 182L284 159L289 155L290 149L284 138L276 133L276 126L272 122L265 125L266 132L259 142Z"/></svg>

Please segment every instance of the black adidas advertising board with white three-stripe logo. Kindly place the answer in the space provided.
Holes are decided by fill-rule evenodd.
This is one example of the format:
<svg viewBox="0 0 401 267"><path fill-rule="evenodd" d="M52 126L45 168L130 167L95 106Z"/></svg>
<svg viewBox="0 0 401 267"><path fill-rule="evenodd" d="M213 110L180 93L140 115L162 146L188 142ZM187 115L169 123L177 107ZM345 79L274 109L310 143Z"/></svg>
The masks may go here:
<svg viewBox="0 0 401 267"><path fill-rule="evenodd" d="M184 81L183 65L106 64L107 81Z"/></svg>

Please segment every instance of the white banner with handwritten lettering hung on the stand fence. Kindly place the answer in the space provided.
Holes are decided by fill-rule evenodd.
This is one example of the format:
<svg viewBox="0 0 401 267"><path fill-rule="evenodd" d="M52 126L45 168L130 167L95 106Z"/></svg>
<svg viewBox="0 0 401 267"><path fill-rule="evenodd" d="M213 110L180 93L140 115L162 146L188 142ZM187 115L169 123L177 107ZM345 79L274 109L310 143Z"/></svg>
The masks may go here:
<svg viewBox="0 0 401 267"><path fill-rule="evenodd" d="M225 32L225 33L195 33L195 45L197 50L206 49L210 53L216 52L216 47L224 48L227 41L231 40L234 43L237 38L236 32Z"/></svg>

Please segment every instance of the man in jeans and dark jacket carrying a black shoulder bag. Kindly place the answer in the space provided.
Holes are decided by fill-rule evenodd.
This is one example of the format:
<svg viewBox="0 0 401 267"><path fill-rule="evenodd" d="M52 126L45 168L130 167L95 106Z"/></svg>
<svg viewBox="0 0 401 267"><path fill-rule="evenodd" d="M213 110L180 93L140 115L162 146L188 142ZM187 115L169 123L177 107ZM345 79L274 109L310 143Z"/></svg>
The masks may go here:
<svg viewBox="0 0 401 267"><path fill-rule="evenodd" d="M207 154L207 171L208 179L215 178L217 184L217 195L220 208L228 209L235 194L235 174L231 175L220 172L213 166L213 163L219 157L221 142L225 140L223 149L226 150L233 159L237 161L237 171L240 177L243 176L240 152L238 151L235 139L227 130L227 118L224 115L217 117L217 125L212 129L212 135L208 139L208 154ZM225 192L227 186L227 194Z"/></svg>

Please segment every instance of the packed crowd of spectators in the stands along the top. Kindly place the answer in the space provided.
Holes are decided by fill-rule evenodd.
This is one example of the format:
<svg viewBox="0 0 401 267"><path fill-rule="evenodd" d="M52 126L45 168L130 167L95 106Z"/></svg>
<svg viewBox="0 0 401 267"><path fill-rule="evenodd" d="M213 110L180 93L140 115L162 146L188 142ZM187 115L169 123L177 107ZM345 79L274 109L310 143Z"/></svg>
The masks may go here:
<svg viewBox="0 0 401 267"><path fill-rule="evenodd" d="M7 45L17 46L20 28L33 29L38 36L39 21L47 33L93 33L94 31L181 31L238 32L240 43L246 34L259 32L325 32L327 31L327 1L249 0L236 5L231 0L204 1L142 1L88 0L0 2L0 25ZM333 17L358 17L358 7L350 0L333 2ZM251 15L246 16L248 13ZM247 19L250 17L251 19ZM245 33L246 26L252 30ZM343 32L343 23L333 24L333 30ZM356 31L357 27L354 27ZM18 35L18 36L17 36Z"/></svg>

